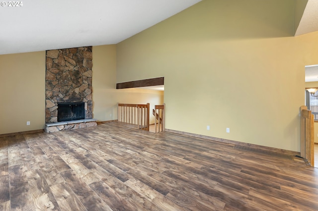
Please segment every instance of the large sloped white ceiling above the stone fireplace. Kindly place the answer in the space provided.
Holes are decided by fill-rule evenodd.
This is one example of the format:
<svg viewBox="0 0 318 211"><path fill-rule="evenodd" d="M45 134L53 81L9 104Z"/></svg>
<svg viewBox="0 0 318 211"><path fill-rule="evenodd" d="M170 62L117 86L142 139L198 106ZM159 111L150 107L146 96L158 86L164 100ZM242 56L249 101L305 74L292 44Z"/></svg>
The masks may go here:
<svg viewBox="0 0 318 211"><path fill-rule="evenodd" d="M1 1L0 54L117 44L199 1Z"/></svg>

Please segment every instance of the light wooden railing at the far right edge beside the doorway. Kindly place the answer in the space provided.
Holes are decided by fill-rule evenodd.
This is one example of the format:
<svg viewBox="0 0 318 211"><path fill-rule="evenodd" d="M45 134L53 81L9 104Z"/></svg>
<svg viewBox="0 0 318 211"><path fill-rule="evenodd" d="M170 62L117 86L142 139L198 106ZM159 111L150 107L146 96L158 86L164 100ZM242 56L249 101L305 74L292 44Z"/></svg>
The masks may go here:
<svg viewBox="0 0 318 211"><path fill-rule="evenodd" d="M307 106L301 106L300 154L311 166L315 166L314 115Z"/></svg>

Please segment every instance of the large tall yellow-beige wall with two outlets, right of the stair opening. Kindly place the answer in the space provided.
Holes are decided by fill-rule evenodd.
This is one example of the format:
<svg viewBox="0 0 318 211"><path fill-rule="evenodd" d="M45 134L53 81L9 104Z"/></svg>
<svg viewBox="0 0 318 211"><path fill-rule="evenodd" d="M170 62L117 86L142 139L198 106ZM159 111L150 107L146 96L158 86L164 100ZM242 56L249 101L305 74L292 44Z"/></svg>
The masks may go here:
<svg viewBox="0 0 318 211"><path fill-rule="evenodd" d="M294 3L203 0L119 43L117 82L164 76L168 129L299 152L318 32L293 37Z"/></svg>

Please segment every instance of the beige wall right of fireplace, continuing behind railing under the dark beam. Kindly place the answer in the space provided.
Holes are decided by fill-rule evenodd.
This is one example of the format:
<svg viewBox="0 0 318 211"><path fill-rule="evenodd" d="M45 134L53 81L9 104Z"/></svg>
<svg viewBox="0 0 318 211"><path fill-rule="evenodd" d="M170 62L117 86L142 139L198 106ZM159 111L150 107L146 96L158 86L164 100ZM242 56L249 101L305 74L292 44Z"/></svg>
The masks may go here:
<svg viewBox="0 0 318 211"><path fill-rule="evenodd" d="M146 89L116 90L116 45L93 47L93 118L117 119L117 104L163 104L163 91ZM154 117L150 116L150 123Z"/></svg>

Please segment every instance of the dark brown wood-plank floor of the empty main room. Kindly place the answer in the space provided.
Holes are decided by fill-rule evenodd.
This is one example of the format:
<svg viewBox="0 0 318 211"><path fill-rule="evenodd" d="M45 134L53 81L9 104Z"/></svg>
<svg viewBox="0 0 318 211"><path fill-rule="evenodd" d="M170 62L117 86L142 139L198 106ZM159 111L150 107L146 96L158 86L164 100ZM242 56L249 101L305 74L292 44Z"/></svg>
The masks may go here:
<svg viewBox="0 0 318 211"><path fill-rule="evenodd" d="M123 125L1 137L0 210L318 210L304 162Z"/></svg>

